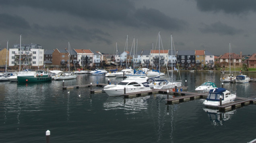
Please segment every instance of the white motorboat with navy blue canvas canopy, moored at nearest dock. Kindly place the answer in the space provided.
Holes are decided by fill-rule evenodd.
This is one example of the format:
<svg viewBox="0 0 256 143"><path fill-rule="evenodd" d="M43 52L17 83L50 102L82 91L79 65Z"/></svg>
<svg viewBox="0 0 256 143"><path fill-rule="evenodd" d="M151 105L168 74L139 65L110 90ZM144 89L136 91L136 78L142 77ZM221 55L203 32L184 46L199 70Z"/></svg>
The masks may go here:
<svg viewBox="0 0 256 143"><path fill-rule="evenodd" d="M236 95L232 94L224 88L211 89L206 100L203 102L203 105L208 107L218 107L220 105L220 98L221 103L225 104L233 102L236 98Z"/></svg>

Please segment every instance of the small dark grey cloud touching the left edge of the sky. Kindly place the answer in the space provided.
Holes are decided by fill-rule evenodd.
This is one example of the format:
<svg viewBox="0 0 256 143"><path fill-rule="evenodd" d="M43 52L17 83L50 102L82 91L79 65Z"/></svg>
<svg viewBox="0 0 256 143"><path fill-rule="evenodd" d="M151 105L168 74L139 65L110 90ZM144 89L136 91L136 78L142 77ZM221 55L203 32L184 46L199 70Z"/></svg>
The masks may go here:
<svg viewBox="0 0 256 143"><path fill-rule="evenodd" d="M10 28L17 30L19 28L29 29L29 23L20 16L12 16L10 14L0 14L0 29Z"/></svg>

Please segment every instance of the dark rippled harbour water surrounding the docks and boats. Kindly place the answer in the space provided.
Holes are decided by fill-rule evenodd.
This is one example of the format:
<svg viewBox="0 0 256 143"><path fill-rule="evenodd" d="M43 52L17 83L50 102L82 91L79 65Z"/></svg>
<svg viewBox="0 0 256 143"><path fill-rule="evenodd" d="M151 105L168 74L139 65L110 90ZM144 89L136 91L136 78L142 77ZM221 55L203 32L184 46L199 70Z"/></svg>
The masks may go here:
<svg viewBox="0 0 256 143"><path fill-rule="evenodd" d="M256 73L247 75L256 77ZM188 91L206 81L220 87L220 76L181 72ZM107 79L78 75L65 85L107 83ZM121 80L109 79L111 84ZM239 97L256 96L256 83L225 83L224 87ZM44 143L47 130L52 143L246 143L256 138L256 105L218 113L205 108L202 99L166 105L166 95L133 99L91 95L89 88L62 90L62 81L1 82L0 91L0 143Z"/></svg>

